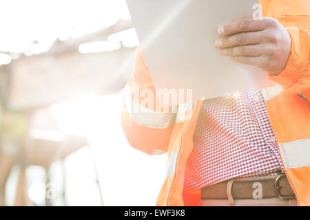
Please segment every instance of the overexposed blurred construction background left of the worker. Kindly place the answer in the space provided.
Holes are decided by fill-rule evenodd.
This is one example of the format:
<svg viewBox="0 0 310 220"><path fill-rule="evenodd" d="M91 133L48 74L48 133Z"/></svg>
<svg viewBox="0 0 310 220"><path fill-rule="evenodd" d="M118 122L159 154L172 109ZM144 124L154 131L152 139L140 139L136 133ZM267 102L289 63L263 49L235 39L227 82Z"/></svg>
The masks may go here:
<svg viewBox="0 0 310 220"><path fill-rule="evenodd" d="M129 146L125 0L0 0L0 206L153 206L166 155Z"/></svg>

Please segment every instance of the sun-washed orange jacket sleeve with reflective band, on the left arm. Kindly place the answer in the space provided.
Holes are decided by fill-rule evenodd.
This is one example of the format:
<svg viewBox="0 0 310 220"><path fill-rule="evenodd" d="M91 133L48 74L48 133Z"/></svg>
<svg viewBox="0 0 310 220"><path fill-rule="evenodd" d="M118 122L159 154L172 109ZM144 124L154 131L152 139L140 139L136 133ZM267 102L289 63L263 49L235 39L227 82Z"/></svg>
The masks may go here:
<svg viewBox="0 0 310 220"><path fill-rule="evenodd" d="M167 152L175 114L156 106L156 90L141 48L136 50L134 72L125 87L121 125L130 145L149 155Z"/></svg>

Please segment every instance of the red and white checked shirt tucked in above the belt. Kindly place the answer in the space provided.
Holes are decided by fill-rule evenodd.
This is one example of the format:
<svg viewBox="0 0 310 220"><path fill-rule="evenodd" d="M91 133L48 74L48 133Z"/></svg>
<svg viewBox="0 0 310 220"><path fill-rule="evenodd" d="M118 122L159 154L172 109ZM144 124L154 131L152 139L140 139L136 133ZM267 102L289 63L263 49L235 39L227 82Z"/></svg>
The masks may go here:
<svg viewBox="0 0 310 220"><path fill-rule="evenodd" d="M282 169L262 92L205 100L185 171L185 188L198 190L236 177L276 175Z"/></svg>

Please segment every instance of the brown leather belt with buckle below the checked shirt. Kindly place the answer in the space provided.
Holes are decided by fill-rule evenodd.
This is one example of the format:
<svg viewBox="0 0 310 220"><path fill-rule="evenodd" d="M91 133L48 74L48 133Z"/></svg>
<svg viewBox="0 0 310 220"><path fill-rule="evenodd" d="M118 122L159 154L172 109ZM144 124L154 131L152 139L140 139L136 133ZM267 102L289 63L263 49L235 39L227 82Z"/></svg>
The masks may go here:
<svg viewBox="0 0 310 220"><path fill-rule="evenodd" d="M231 181L230 181L231 182ZM251 177L222 181L201 190L201 199L228 199L227 186L234 199L256 199L257 190L260 190L261 199L279 197L280 199L295 199L295 195L285 174L268 177Z"/></svg>

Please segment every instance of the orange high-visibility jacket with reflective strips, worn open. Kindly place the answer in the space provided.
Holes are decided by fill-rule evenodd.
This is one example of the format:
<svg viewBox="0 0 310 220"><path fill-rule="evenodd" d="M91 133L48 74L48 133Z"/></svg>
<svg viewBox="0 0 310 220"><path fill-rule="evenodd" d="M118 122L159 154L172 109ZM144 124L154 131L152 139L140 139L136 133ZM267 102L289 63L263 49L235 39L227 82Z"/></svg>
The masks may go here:
<svg viewBox="0 0 310 220"><path fill-rule="evenodd" d="M262 94L298 205L310 206L310 1L261 0L260 3L263 15L282 23L292 39L287 67L277 76L269 75L276 86L262 89ZM150 100L147 94L156 93L139 48L126 89L129 96L124 98L121 117L128 142L149 155L168 153L167 175L156 205L197 206L200 191L185 190L183 181L202 102L178 104L177 113L154 109L156 104L150 103L155 100ZM134 95L136 89L138 99ZM138 108L140 113L130 107Z"/></svg>

